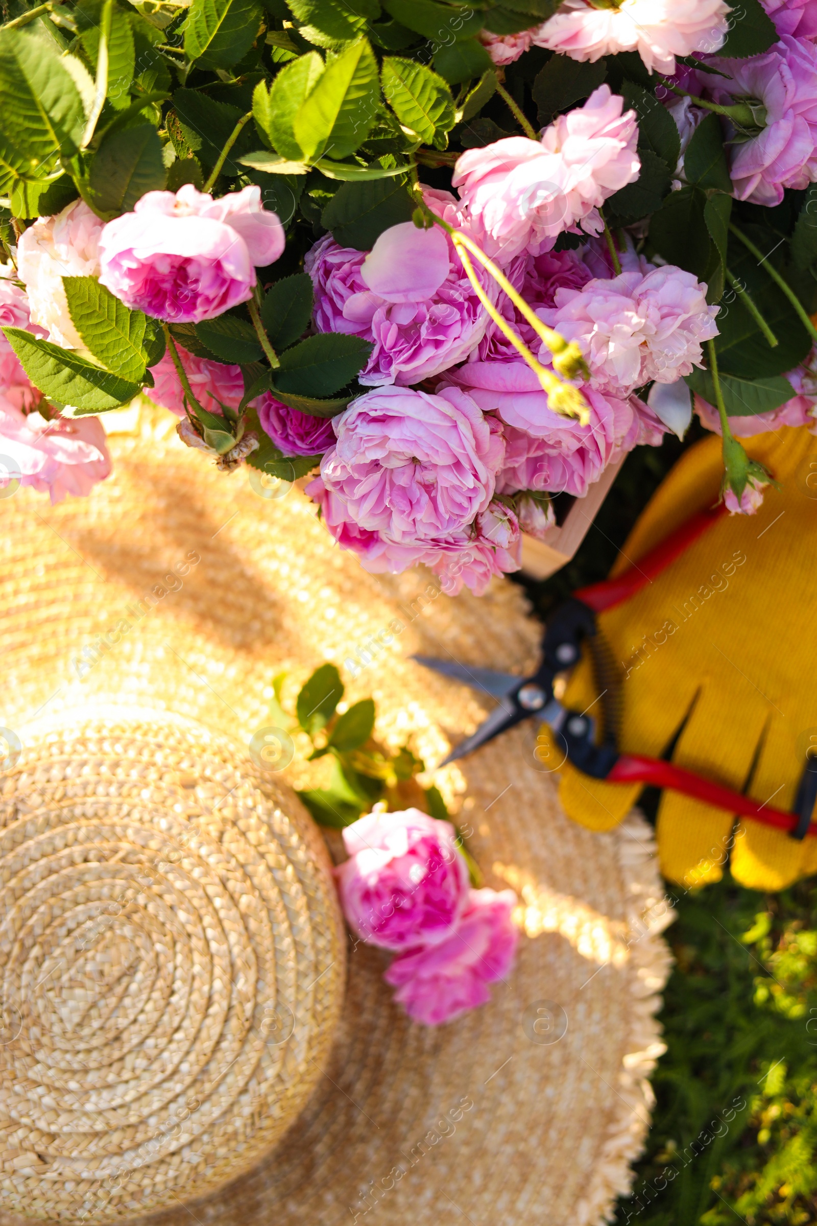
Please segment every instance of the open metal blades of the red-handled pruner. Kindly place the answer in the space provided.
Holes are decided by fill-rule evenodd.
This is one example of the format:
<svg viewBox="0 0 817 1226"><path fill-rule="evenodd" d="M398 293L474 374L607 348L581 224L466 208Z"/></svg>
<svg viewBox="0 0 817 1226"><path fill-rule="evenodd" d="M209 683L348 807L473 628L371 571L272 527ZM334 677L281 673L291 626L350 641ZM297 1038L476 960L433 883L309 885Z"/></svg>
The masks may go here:
<svg viewBox="0 0 817 1226"><path fill-rule="evenodd" d="M512 673L497 673L490 668L470 668L454 661L435 660L432 656L414 656L413 658L443 677L451 677L464 685L470 685L472 689L481 690L484 694L499 699L499 705L483 720L476 732L461 741L440 763L440 766L447 766L448 763L480 749L494 737L499 737L530 716L538 716L539 720L550 723L554 728L561 726L565 709L552 696L552 688L541 683L543 679L539 674L514 677Z"/></svg>

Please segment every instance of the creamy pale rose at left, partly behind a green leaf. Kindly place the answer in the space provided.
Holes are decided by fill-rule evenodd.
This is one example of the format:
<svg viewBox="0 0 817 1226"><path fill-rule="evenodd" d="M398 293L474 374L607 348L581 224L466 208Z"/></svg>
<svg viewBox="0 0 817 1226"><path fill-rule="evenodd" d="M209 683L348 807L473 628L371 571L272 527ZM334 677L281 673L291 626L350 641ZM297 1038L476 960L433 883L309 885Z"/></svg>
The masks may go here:
<svg viewBox="0 0 817 1226"><path fill-rule="evenodd" d="M26 283L33 324L65 349L83 348L69 314L62 277L99 273L99 237L104 222L83 200L54 217L39 217L17 244L17 268Z"/></svg>

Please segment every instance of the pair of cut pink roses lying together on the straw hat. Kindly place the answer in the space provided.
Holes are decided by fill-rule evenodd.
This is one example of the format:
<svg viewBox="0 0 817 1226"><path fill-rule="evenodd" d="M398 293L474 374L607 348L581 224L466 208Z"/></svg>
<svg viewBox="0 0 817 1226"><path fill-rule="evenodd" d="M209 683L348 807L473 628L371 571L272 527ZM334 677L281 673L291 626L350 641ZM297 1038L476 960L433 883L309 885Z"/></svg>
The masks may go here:
<svg viewBox="0 0 817 1226"><path fill-rule="evenodd" d="M352 931L397 956L385 980L414 1021L436 1026L490 999L513 964L512 890L475 890L448 821L419 809L347 826L336 869Z"/></svg>

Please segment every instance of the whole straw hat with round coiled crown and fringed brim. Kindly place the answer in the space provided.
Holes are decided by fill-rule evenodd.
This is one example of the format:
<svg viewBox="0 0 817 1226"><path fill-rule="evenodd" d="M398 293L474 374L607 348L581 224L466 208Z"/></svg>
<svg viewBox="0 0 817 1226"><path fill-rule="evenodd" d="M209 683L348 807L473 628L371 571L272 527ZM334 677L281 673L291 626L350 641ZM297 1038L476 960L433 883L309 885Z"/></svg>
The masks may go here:
<svg viewBox="0 0 817 1226"><path fill-rule="evenodd" d="M20 489L0 501L0 714L7 744L13 748L17 738L22 745L0 783L10 788L9 804L36 815L11 825L11 809L4 810L2 836L11 842L10 850L4 843L0 869L5 883L16 880L12 872L29 872L33 880L42 846L40 873L54 907L51 927L28 948L24 982L49 973L61 948L48 943L51 932L54 942L69 940L60 906L78 907L80 897L96 896L94 885L80 878L76 897L65 893L75 889L71 874L85 861L73 843L71 856L54 842L58 810L61 820L67 812L80 824L125 831L115 853L111 837L94 861L111 863L111 881L146 862L138 848L149 843L149 829L156 831L149 855L157 859L168 859L179 824L198 814L203 842L187 878L190 904L170 908L154 897L156 883L142 883L153 927L137 937L127 928L135 926L132 912L116 917L108 948L120 962L99 969L76 960L81 982L58 980L55 972L49 983L58 981L58 988L50 996L44 986L38 989L53 1013L54 1002L64 1003L62 1024L67 1013L83 1038L98 1034L104 1045L93 1065L86 1062L88 1069L66 1080L69 1090L86 1096L85 1139L73 1130L78 1111L51 1106L59 1089L49 1076L54 1068L65 1070L70 1052L59 1026L49 1034L40 1026L31 1053L4 1056L13 1045L0 1048L2 1226L20 1220L15 1214L96 1226L158 1205L164 1208L149 1217L153 1226L187 1226L191 1216L213 1226L333 1226L367 1213L393 1226L459 1217L475 1226L605 1220L616 1194L631 1186L630 1162L649 1122L647 1079L663 1051L654 1015L669 955L659 933L671 915L643 819L633 813L604 835L570 821L552 776L534 756L533 726L439 772L435 782L470 831L486 884L517 891L524 935L516 966L507 982L494 986L490 1004L426 1029L410 1024L391 1000L381 950L349 946L345 999L339 999L343 949L325 858L284 786L307 780L320 786L316 771L325 763L306 765L296 753L269 783L247 755L254 734L271 722L272 678L287 672L287 705L309 673L331 660L348 683L349 701L375 698L383 744L397 748L409 739L426 763L441 760L489 704L409 657L448 652L475 664L529 668L540 628L525 614L522 590L495 582L481 600L468 593L450 600L420 571L367 575L332 544L296 487L267 488L247 470L216 472L179 445L169 414L143 406L120 414L120 424L127 432L109 439L114 476L88 499L49 508ZM138 771L151 779L147 802L129 782ZM66 782L77 777L81 797ZM213 812L213 796L228 793ZM260 832L268 843L258 841ZM328 841L337 855L337 837ZM222 872L218 855L230 857L230 873ZM71 864L65 880L60 856ZM261 886L252 873L263 864ZM244 910L250 885L261 917L283 917L282 906L287 910L292 939L285 933L279 940L274 920L254 924ZM110 1166L148 1127L160 1132L152 1102L175 1102L164 1083L176 1074L165 1069L159 1045L148 1041L134 1049L130 1064L121 1057L109 1025L111 994L148 991L131 966L146 967L153 953L141 946L134 953L129 940L149 937L154 949L181 948L183 913L202 922L208 900L224 931L234 922L245 959L252 955L261 966L266 958L265 967L274 961L276 983L283 984L274 999L285 1007L274 1013L276 1026L287 1008L295 1021L283 1045L258 1042L269 999L265 981L244 1014L235 1002L234 1020L254 1019L244 1038L228 1021L214 1022L222 1046L195 1073L227 1080L229 1042L247 1067L261 1051L252 1083L258 1092L244 1094L236 1076L223 1098L211 1091L207 1127L203 1108L195 1108L187 1175L171 1161L171 1150L184 1152L176 1134L167 1161L163 1149L156 1162L124 1173L125 1190L100 1192L103 1181L85 1176L73 1186L49 1176L49 1166L59 1167L51 1163L55 1155L81 1155L82 1144ZM0 956L18 961L9 937L0 939ZM232 1016L233 1004L217 994L201 992L202 1026L208 1008ZM165 993L165 1010L170 999ZM31 1016L45 1014L32 1008ZM290 1051L285 1059L282 1046ZM24 1078L20 1062L27 1062ZM115 1103L127 1097L130 1076L136 1079L131 1114L111 1133L105 1111L122 1113ZM15 1097L12 1078L22 1078L24 1103ZM232 1166L224 1159L230 1137ZM23 1166L22 1150L23 1161L42 1155L44 1170ZM206 1195L225 1177L233 1182Z"/></svg>

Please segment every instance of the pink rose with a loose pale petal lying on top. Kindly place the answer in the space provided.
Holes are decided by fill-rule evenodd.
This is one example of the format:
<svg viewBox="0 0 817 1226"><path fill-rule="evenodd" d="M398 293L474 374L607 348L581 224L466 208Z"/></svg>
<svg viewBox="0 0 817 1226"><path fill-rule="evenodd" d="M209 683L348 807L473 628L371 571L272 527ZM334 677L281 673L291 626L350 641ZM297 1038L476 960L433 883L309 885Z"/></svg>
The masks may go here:
<svg viewBox="0 0 817 1226"><path fill-rule="evenodd" d="M448 192L426 190L439 215L461 227ZM374 342L360 374L369 386L407 386L463 362L481 341L490 316L476 295L453 243L439 227L412 222L380 235L370 253L338 246L326 234L306 254L315 286L315 326ZM496 299L496 282L481 267L480 283Z"/></svg>

